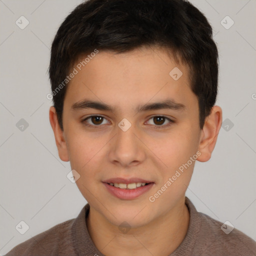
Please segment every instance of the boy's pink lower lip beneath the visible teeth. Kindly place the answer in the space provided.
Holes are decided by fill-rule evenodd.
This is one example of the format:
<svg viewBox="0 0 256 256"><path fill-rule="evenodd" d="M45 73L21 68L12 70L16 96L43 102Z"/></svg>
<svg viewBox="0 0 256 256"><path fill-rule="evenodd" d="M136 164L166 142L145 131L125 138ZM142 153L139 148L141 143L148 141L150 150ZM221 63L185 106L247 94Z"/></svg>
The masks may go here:
<svg viewBox="0 0 256 256"><path fill-rule="evenodd" d="M141 194L148 191L154 183L149 183L147 185L140 186L140 187L137 187L137 188L134 188L134 189L119 188L119 187L111 186L111 185L109 185L108 183L105 183L105 182L103 182L103 184L105 185L106 189L112 195L115 195L116 197L118 197L120 199L130 200L130 199L137 198Z"/></svg>

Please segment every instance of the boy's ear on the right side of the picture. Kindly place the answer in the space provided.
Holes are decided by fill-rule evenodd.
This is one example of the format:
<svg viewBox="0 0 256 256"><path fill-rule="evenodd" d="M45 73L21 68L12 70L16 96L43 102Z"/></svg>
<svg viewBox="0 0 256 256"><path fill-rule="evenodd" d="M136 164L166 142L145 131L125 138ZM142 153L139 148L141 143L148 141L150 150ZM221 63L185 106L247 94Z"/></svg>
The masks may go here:
<svg viewBox="0 0 256 256"><path fill-rule="evenodd" d="M206 162L211 157L219 129L222 123L222 110L219 106L213 106L210 114L205 118L203 128L201 130L201 136L199 141L198 150L201 154L197 157L200 162Z"/></svg>

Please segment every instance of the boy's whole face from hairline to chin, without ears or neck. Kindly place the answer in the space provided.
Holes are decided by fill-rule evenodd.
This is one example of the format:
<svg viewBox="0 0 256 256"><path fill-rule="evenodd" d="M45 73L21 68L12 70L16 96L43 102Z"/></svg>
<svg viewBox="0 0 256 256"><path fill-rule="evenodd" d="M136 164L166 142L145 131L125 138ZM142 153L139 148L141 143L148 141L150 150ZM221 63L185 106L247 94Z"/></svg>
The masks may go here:
<svg viewBox="0 0 256 256"><path fill-rule="evenodd" d="M77 70L64 99L63 137L92 212L138 227L175 209L201 132L186 66L163 49L140 48L99 51Z"/></svg>

